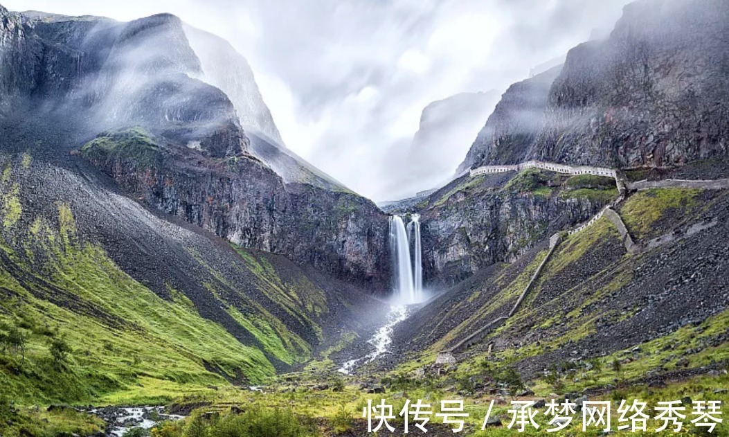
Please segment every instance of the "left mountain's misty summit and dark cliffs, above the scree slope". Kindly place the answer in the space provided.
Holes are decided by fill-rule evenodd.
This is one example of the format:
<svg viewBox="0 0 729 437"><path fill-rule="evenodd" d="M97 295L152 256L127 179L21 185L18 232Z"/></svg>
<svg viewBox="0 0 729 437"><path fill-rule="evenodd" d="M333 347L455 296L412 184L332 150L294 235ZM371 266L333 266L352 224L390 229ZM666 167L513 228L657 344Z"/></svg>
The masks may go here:
<svg viewBox="0 0 729 437"><path fill-rule="evenodd" d="M69 149L82 148L152 208L375 292L389 288L386 215L344 189L285 185L252 157L231 98L196 79L207 64L178 18L0 13L3 101L44 119L39 130L84 141L98 135L65 150L38 142L48 159L74 161ZM248 79L235 98L247 95Z"/></svg>

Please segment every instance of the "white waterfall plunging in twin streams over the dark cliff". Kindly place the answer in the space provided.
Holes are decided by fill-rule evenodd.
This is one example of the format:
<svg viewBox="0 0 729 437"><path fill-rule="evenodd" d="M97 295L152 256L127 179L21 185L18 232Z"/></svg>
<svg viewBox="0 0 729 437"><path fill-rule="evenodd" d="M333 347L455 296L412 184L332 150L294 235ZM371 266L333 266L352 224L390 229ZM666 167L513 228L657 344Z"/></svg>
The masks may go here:
<svg viewBox="0 0 729 437"><path fill-rule="evenodd" d="M419 303L423 300L423 263L420 244L420 216L413 215L405 228L402 217L394 215L390 220L390 248L394 260L395 295L402 303ZM414 240L410 251L410 239Z"/></svg>

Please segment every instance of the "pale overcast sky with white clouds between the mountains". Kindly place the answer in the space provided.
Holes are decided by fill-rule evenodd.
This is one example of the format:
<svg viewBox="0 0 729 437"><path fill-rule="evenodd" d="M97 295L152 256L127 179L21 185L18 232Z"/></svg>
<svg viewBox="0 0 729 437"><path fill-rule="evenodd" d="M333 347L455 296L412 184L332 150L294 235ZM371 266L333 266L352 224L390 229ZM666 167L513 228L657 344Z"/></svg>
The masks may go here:
<svg viewBox="0 0 729 437"><path fill-rule="evenodd" d="M470 144L443 144L432 177L408 177L426 104L505 90L593 29L612 28L628 2L0 0L11 10L117 20L171 12L228 39L249 59L286 145L375 201L432 187L466 155Z"/></svg>

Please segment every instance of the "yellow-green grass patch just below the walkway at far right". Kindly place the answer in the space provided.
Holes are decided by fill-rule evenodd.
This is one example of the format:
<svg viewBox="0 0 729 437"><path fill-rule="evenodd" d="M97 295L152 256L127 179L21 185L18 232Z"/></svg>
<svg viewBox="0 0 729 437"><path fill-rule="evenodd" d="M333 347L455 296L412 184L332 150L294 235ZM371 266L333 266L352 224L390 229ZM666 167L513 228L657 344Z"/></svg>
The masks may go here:
<svg viewBox="0 0 729 437"><path fill-rule="evenodd" d="M701 190L685 190L682 188L660 188L640 191L625 201L620 209L625 226L633 236L639 239L657 236L656 229L663 217L673 213L676 217L685 217L697 206L696 197Z"/></svg>

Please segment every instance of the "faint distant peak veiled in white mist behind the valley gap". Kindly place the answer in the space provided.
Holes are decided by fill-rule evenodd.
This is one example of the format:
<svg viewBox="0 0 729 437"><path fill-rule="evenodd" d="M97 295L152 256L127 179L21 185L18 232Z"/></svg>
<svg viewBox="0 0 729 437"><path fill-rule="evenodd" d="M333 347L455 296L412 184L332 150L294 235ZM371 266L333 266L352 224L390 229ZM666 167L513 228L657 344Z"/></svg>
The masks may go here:
<svg viewBox="0 0 729 437"><path fill-rule="evenodd" d="M498 98L495 90L460 93L426 106L408 152L414 177L448 174L456 165L453 159L461 155L460 145L473 141Z"/></svg>

